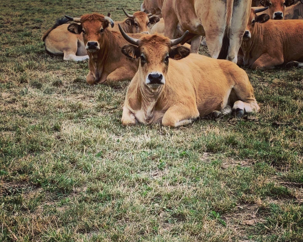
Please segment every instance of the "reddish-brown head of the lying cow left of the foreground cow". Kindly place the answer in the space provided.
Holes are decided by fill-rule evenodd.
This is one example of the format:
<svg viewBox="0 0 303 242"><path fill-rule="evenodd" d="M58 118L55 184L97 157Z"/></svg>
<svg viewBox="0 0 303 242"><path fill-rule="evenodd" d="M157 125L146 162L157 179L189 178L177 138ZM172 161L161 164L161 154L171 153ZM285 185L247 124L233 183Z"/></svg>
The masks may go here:
<svg viewBox="0 0 303 242"><path fill-rule="evenodd" d="M74 22L68 25L67 30L74 34L83 33L83 41L85 48L88 52L97 52L100 50L100 43L102 43L103 34L107 31L110 24L114 27L114 21L109 17L102 14L85 14L81 18L72 18L66 16Z"/></svg>

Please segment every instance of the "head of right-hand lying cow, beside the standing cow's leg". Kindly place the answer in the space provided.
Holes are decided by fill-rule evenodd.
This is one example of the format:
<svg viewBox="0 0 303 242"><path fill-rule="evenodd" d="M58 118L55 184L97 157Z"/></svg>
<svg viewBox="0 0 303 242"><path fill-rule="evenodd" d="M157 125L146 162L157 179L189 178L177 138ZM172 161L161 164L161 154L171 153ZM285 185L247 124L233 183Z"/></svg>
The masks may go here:
<svg viewBox="0 0 303 242"><path fill-rule="evenodd" d="M254 34L255 23L265 23L265 22L269 21L269 19L271 19L269 17L269 14L257 15L257 13L263 12L263 11L267 10L268 8L269 7L260 8L257 10L251 9L251 14L249 15L249 22L247 23L247 28L243 35L243 39L242 39L243 41L249 41L251 39L251 36L253 36L253 34Z"/></svg>

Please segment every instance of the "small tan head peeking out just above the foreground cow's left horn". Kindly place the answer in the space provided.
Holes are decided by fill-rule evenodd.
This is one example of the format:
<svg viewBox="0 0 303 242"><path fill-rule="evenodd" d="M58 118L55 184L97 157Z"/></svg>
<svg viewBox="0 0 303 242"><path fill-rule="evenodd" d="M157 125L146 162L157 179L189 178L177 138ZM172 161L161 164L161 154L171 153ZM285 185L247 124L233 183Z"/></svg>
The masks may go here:
<svg viewBox="0 0 303 242"><path fill-rule="evenodd" d="M152 14L146 14L145 12L134 12L134 14L127 14L122 8L125 15L128 19L125 20L125 23L132 28L132 33L142 33L149 34L151 25L160 21L158 17L151 17Z"/></svg>

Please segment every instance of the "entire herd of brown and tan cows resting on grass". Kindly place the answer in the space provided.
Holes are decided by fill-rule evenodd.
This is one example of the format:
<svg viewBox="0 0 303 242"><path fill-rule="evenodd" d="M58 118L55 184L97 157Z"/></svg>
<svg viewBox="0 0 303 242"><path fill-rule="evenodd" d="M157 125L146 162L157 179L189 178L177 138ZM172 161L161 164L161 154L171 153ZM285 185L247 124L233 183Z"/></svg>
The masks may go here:
<svg viewBox="0 0 303 242"><path fill-rule="evenodd" d="M125 126L181 126L205 115L258 112L238 65L303 66L303 0L144 0L140 10L123 9L124 21L65 15L42 37L50 54L88 59L90 85L132 79ZM212 58L197 54L202 36Z"/></svg>

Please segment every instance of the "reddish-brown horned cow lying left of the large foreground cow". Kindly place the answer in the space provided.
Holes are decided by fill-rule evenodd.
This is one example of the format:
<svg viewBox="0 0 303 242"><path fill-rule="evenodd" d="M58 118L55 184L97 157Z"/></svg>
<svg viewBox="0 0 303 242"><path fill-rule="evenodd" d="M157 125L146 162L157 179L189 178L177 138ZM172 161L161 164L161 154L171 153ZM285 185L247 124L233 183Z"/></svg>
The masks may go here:
<svg viewBox="0 0 303 242"><path fill-rule="evenodd" d="M114 27L114 21L103 14L85 14L81 18L65 15L71 23L67 30L73 34L83 33L83 41L87 50L90 72L86 80L90 85L97 83L131 80L138 69L138 61L127 58L121 53L127 43L120 32L110 31L109 25ZM142 34L134 34L136 37Z"/></svg>

